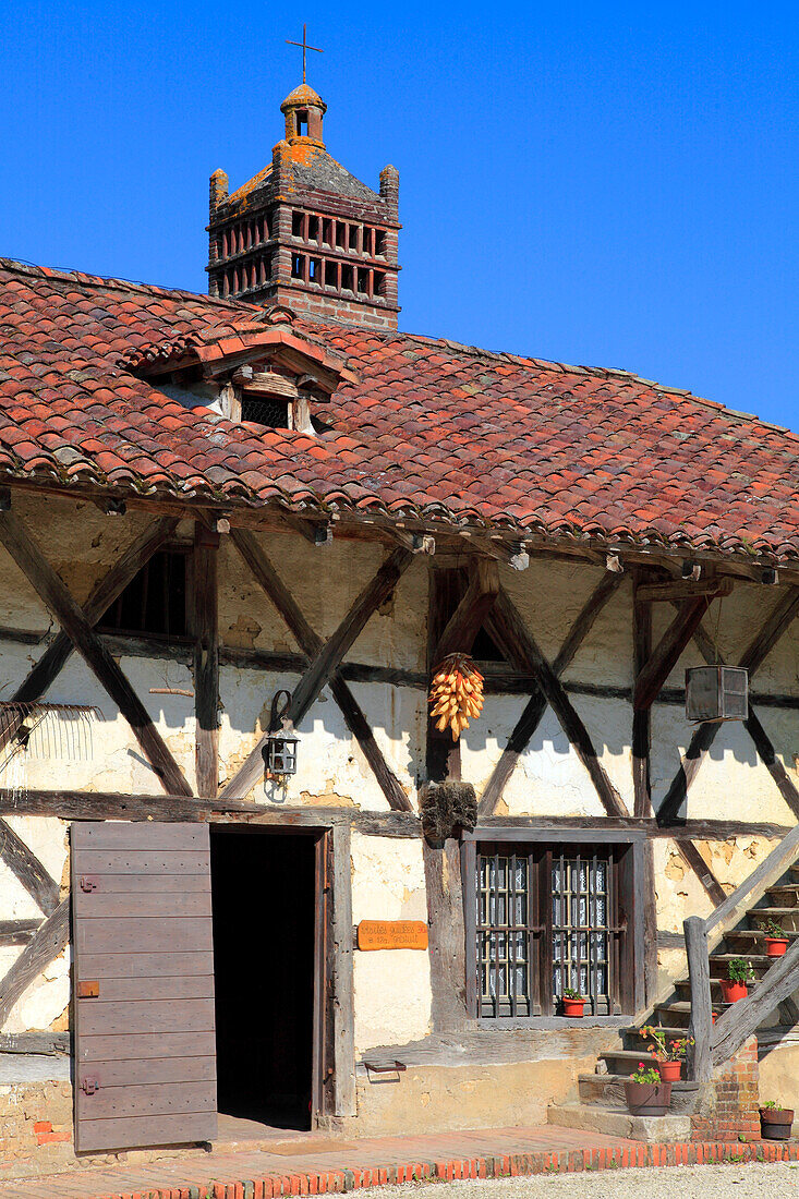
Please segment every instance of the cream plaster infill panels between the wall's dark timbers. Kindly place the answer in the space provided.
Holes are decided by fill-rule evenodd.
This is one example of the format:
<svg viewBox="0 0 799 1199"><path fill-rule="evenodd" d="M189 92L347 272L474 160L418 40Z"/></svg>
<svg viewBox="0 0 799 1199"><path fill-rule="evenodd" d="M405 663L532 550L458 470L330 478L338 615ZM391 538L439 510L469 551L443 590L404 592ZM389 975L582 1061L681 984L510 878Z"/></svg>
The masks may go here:
<svg viewBox="0 0 799 1199"><path fill-rule="evenodd" d="M91 502L26 494L14 495L14 514L36 538L78 603L85 603L92 586L154 520L140 512L110 517ZM193 520L179 523L174 536L191 542ZM254 541L268 554L312 632L322 639L334 634L350 604L391 553L385 542L338 536L330 544L314 546L298 532L256 532ZM457 561L447 558L446 565L468 567L469 558L465 553ZM0 698L10 698L50 644L58 622L4 549L0 549L0 566L4 579ZM440 566L437 555L415 555L403 570L394 595L370 617L344 656L346 663L359 664L360 673L349 676L349 689L411 809L416 808L417 787L426 769L426 614L431 572ZM588 597L607 577L601 566L535 556L525 571L500 566L499 572L505 592L549 663L558 659ZM218 549L218 782L223 788L266 730L276 689L294 689L307 657L242 560L232 536L226 534ZM741 582L723 600L720 617L719 601L710 604L702 627L713 643L717 622L717 646L725 661L740 658L783 595L783 588ZM660 603L651 611L651 637L656 645L674 610L671 604ZM121 637L106 638L104 644L146 707L176 766L196 789L192 645L187 641L158 646L145 638L126 641ZM703 661L699 649L691 643L651 710L650 777L655 808L669 791L693 731L680 703L684 669ZM376 676L373 668L383 674ZM397 671L396 677L389 679L388 670ZM792 784L799 783L794 759L799 754L798 671L799 622L794 622L752 677L762 727ZM462 737L461 773L474 783L477 796L489 784L533 689L529 679L512 683L511 676L509 665L493 665L483 715ZM563 669L561 682L611 789L623 809L633 813L630 572L609 595L584 641ZM758 704L758 695L765 695L767 700ZM91 755L84 760L29 757L23 777L13 776L16 767L11 765L4 769L0 787L163 794L164 788L119 706L77 653L71 655L44 698L96 705L100 716L92 724ZM547 706L497 797L494 817L509 820L582 817L600 823L606 818L595 781L563 724L561 715ZM385 788L349 731L329 686L299 721L298 731L301 740L296 776L286 787L265 783L262 777L251 788L248 800L275 812L294 807L337 809L342 814L389 812ZM686 803L680 801L678 811L691 820L739 821L741 829L733 836L695 838L693 864L680 850L677 835L672 838L661 833L654 839L657 927L661 933L672 934L681 932L685 916L707 915L714 905L707 878L704 882L699 879L703 863L715 885L729 891L775 844L779 830L770 835L762 827L750 832L744 827L746 823L785 827L797 820L797 813L756 752L752 737L740 724L727 724L719 730L689 789ZM67 894L68 826L52 817L10 814L4 819L5 827L38 861L43 876L35 885L25 885L19 866L12 869L7 854L0 854L0 921L28 921L32 926L36 920L52 916ZM382 837L376 832L379 827L372 829L370 836L356 830L353 833L353 920L426 918L421 838ZM24 948L24 941L0 944L0 975L7 975ZM67 1028L68 952L68 947L61 948L43 972L13 998L6 1012L0 1007L2 1034ZM680 954L679 947L663 939L661 968L673 975ZM433 983L427 954L356 952L356 1055L429 1036L434 1031ZM557 1047L553 1052L557 1055Z"/></svg>

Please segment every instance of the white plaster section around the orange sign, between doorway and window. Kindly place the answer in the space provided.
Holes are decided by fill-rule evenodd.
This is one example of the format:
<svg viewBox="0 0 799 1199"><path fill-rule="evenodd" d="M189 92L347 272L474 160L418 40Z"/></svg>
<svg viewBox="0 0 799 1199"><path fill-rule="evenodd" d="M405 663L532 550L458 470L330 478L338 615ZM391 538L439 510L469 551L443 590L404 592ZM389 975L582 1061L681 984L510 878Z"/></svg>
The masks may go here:
<svg viewBox="0 0 799 1199"><path fill-rule="evenodd" d="M420 840L353 833L353 921L427 922ZM429 957L421 950L355 950L355 1052L429 1031Z"/></svg>

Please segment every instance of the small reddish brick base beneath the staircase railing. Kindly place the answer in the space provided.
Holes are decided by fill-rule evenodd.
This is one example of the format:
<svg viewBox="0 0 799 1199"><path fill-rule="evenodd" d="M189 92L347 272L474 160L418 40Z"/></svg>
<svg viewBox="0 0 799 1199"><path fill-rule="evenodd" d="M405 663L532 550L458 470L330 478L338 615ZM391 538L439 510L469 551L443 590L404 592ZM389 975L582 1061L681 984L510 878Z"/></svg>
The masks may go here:
<svg viewBox="0 0 799 1199"><path fill-rule="evenodd" d="M761 1134L757 1037L715 1072L691 1116L691 1138L753 1140Z"/></svg>

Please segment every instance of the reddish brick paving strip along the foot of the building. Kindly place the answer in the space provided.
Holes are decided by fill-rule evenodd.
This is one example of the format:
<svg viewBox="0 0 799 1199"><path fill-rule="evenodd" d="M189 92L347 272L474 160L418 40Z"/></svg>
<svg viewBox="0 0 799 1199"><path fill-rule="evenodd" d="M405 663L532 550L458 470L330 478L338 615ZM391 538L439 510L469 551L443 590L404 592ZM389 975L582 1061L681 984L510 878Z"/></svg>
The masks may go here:
<svg viewBox="0 0 799 1199"><path fill-rule="evenodd" d="M6 1182L2 1199L275 1199L410 1181L798 1159L795 1141L643 1144L549 1125L340 1145L319 1134L265 1149L221 1149L191 1162L120 1164Z"/></svg>

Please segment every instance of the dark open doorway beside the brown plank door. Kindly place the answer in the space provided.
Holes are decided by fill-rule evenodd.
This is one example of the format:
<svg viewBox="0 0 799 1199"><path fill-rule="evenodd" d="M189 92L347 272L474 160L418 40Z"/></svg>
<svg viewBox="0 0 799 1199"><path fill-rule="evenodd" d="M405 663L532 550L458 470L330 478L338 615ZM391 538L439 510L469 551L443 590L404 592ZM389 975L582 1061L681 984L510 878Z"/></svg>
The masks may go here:
<svg viewBox="0 0 799 1199"><path fill-rule="evenodd" d="M217 1108L310 1128L316 842L211 825Z"/></svg>

